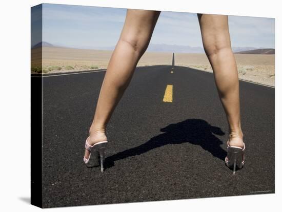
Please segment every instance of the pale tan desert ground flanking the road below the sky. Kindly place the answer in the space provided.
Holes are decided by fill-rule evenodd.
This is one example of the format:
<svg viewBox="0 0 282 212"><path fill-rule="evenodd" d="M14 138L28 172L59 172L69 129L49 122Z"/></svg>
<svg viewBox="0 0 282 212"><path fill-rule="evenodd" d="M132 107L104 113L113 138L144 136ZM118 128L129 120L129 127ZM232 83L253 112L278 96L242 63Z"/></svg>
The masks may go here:
<svg viewBox="0 0 282 212"><path fill-rule="evenodd" d="M112 51L42 47L31 50L31 73L107 69ZM212 72L205 54L175 53L175 66ZM234 54L240 79L275 86L275 56ZM42 59L42 66L41 66ZM171 65L172 53L145 52L137 66Z"/></svg>

